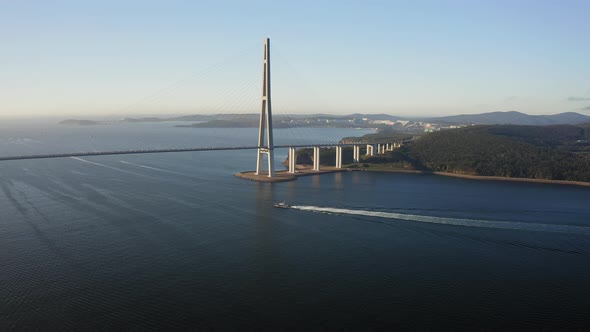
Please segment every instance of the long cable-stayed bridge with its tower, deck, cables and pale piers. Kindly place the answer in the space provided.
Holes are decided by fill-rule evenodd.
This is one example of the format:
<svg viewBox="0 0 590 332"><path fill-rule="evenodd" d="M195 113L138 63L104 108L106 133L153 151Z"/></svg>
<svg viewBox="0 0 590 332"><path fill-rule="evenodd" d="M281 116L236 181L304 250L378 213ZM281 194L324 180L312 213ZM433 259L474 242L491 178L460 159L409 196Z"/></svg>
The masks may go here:
<svg viewBox="0 0 590 332"><path fill-rule="evenodd" d="M148 126L148 130L143 132L141 135L136 135L136 138L140 138L142 142L156 142L156 146L150 147L141 147L141 148L105 148L105 147L97 147L94 144L94 135L92 134L92 130L89 129L89 126L82 126L80 128L80 132L84 130L88 131L90 146L92 149L90 151L73 151L73 152L55 152L55 153L29 153L29 154L19 154L19 153L12 153L9 155L0 155L0 161L8 161L8 160L25 160L25 159L48 159L48 158L64 158L64 157L88 157L88 156L107 156L107 155L129 155L129 154L149 154L149 153L171 153L171 152L191 152L191 151L229 151L229 150L257 150L257 163L256 163L256 175L259 176L274 176L274 149L289 149L288 152L288 172L295 173L296 172L296 149L297 148L313 148L313 170L319 171L320 170L320 148L334 148L335 151L335 165L336 168L342 168L342 149L345 147L352 147L353 148L353 159L355 162L360 161L361 155L361 146L364 151L366 151L367 155L374 155L376 153L385 153L386 151L391 151L395 147L398 147L401 142L379 142L375 143L372 142L371 144L367 144L366 142L348 142L346 144L341 143L341 137L334 136L333 133L330 133L329 130L322 127L316 127L315 129L320 132L322 135L322 139L318 142L310 142L306 139L307 133L305 132L305 128L302 126L293 126L289 127L287 130L290 130L291 140L288 144L274 144L274 135L273 135L273 103L271 101L271 68L270 68L270 40L268 38L264 41L264 53L263 53L263 66L262 72L255 73L256 75L262 76L262 98L259 99L261 101L261 111L258 121L258 144L243 144L243 141L228 144L227 142L217 143L216 144L208 144L209 146L194 146L192 144L184 144L184 146L180 147L173 147L173 146L164 146L162 147L161 142L158 141L161 138L161 134L166 134L168 128L163 128L162 126L153 125ZM231 70L230 70L231 71ZM217 79L218 75L215 75L213 72L211 74L214 78ZM223 75L221 75L223 76ZM250 75L251 76L251 75ZM231 109L232 111L242 110L243 112L235 112L232 116L226 117L225 123L236 123L236 122L244 122L248 121L248 116L251 113L246 113L252 110L252 100L253 96L255 96L255 90L257 84L255 82L257 80L249 79L247 74L243 74L242 77L247 77L245 79L245 83L240 84L240 88L235 89L238 92L227 92L222 93L222 105L213 107L215 110L223 110L223 109ZM260 77L258 76L258 77ZM207 78L206 81L210 79ZM182 81L181 81L182 82ZM254 83L253 83L254 82ZM259 81L258 81L259 82ZM258 83L259 84L259 83ZM151 101L156 101L154 104L159 111L164 112L174 112L178 114L179 108L174 107L173 103L167 103L170 99L170 91L175 92L175 96L179 97L181 100L187 96L191 95L191 90L179 88L180 83L176 83L171 85L168 89L165 89L163 92L165 93L156 93L154 96L150 96L145 98L144 101L141 102L143 108L142 110L146 111L148 109L145 108L146 103L149 104ZM259 85L258 85L259 86ZM259 90L258 90L259 91ZM168 94L166 94L168 93ZM163 97L162 97L163 96ZM286 96L285 103L288 104L288 108L284 108L283 110L286 111L294 111L297 114L300 114L302 117L310 117L313 114L309 114L309 112L305 111L306 107L301 106L297 100L293 98L293 96L289 96L289 94L281 94L281 96ZM159 99L158 99L159 98ZM177 98L177 99L179 99ZM185 100L186 101L186 100ZM281 105L279 103L279 105ZM284 106L283 106L284 107ZM149 108L149 107L148 107ZM281 106L279 106L279 109ZM184 113L181 113L180 116L176 116L176 119L190 118L189 114L194 113L194 109L186 108L183 110ZM281 114L282 119L289 119L289 115ZM296 120L296 119L295 119ZM129 122L129 121L128 121ZM132 122L132 121L131 121ZM139 121L138 121L139 122ZM150 121L147 120L149 123ZM159 122L161 123L161 122ZM112 126L117 126L119 124L111 124ZM182 127L190 127L190 126L182 126ZM310 124L309 127L314 128L313 124ZM211 130L211 128L208 128ZM180 130L180 129L178 129ZM192 130L192 129L188 129ZM83 132L85 133L85 132ZM103 133L104 134L104 133ZM143 136L142 136L143 135ZM42 135L41 135L42 136ZM103 135L104 136L104 135ZM79 139L80 136L75 139ZM226 137L224 137L226 138ZM106 138L108 139L108 137ZM254 140L252 140L254 142ZM132 143L132 142L130 142ZM284 142L283 142L284 143ZM191 146L192 145L192 146ZM366 148L365 148L366 146ZM267 161L266 168L264 167L264 160Z"/></svg>

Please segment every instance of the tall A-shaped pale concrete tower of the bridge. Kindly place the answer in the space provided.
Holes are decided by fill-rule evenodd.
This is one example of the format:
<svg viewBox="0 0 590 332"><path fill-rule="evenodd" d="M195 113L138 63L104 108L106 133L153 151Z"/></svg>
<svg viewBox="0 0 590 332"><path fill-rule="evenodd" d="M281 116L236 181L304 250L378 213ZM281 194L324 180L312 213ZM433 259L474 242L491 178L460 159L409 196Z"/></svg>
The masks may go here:
<svg viewBox="0 0 590 332"><path fill-rule="evenodd" d="M266 154L268 159L268 177L273 177L274 147L272 137L272 104L270 98L270 38L264 39L264 55L262 66L262 109L260 111L260 124L258 130L258 156L256 175L261 175L263 172L262 164L264 155Z"/></svg>

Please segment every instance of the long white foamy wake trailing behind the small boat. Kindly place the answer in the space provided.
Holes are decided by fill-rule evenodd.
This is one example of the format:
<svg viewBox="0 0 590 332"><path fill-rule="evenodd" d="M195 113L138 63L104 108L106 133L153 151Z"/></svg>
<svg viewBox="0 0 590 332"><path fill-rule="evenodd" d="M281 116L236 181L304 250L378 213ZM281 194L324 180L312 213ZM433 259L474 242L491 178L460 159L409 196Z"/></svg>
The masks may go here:
<svg viewBox="0 0 590 332"><path fill-rule="evenodd" d="M352 210L339 209L332 207L321 207L313 205L292 205L292 209L301 211L310 211L318 213L343 214L365 217L377 217L397 220L409 220L432 224L468 226L468 227L482 227L495 229L510 229L522 231L540 231L540 232L555 232L567 234L589 235L590 227L574 226L574 225L557 225L557 224L540 224L540 223L526 223L518 221L500 221L500 220L481 220L481 219L461 219L449 217L436 217L417 214L405 214L394 212L380 212L369 210Z"/></svg>

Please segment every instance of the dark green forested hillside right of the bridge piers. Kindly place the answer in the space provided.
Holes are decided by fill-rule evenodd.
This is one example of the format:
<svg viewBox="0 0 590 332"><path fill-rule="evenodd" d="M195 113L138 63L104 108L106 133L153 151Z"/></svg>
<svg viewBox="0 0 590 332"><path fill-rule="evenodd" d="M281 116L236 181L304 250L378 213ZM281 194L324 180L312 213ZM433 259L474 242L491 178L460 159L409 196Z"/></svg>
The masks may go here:
<svg viewBox="0 0 590 332"><path fill-rule="evenodd" d="M590 181L584 152L589 131L590 126L474 126L424 135L383 159L432 171Z"/></svg>

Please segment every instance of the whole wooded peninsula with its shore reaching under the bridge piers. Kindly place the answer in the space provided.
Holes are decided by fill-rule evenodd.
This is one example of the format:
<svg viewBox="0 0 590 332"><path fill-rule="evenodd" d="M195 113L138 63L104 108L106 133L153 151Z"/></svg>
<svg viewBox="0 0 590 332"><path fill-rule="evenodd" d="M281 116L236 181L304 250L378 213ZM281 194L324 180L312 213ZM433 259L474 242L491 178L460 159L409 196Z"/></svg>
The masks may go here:
<svg viewBox="0 0 590 332"><path fill-rule="evenodd" d="M387 141L387 133L380 133ZM390 133L400 138L400 133ZM375 134L348 137L371 143ZM377 136L379 137L379 136ZM394 151L361 156L353 163L344 148L349 169L406 171L473 179L516 180L590 185L590 124L555 126L482 125L427 133ZM321 164L334 165L333 151L322 149ZM311 149L297 151L297 164L313 161Z"/></svg>

